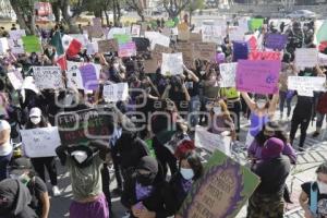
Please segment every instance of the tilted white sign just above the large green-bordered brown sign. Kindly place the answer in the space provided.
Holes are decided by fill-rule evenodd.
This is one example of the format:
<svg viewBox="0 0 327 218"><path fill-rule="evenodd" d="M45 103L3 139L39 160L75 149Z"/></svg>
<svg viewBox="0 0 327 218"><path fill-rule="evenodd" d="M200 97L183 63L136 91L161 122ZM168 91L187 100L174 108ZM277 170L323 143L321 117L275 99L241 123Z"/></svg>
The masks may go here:
<svg viewBox="0 0 327 218"><path fill-rule="evenodd" d="M195 146L215 153L217 149L227 156L231 156L230 152L231 137L220 134L210 133L203 126L195 129Z"/></svg>

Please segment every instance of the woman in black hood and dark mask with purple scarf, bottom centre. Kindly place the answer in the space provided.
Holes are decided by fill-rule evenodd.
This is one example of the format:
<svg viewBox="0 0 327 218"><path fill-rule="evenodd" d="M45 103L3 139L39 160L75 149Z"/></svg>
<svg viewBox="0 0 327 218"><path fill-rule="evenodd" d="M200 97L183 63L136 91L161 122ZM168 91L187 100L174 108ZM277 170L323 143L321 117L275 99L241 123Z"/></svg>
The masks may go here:
<svg viewBox="0 0 327 218"><path fill-rule="evenodd" d="M161 166L149 156L141 159L135 173L124 183L121 203L131 210L131 218L166 218L174 205Z"/></svg>

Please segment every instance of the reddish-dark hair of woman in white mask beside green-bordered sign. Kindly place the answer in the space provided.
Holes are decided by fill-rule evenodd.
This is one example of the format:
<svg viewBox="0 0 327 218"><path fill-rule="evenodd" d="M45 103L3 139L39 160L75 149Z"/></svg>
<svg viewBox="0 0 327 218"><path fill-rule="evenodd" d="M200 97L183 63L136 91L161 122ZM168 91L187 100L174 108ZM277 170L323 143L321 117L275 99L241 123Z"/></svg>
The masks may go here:
<svg viewBox="0 0 327 218"><path fill-rule="evenodd" d="M201 162L201 159L198 157L198 155L196 154L195 150L187 150L185 153L183 153L180 156L180 165L179 165L179 169L181 169L181 161L182 160L187 160L189 165L191 166L193 172L194 172L194 177L193 180L197 180L202 177L203 174L203 165Z"/></svg>

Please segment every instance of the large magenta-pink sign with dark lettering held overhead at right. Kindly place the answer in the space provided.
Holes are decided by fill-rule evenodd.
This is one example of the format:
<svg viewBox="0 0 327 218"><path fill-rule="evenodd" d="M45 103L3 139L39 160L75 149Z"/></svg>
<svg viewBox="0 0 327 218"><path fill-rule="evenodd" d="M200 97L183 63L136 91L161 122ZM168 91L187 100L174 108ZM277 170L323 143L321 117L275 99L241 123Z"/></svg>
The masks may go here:
<svg viewBox="0 0 327 218"><path fill-rule="evenodd" d="M280 61L239 60L237 88L247 93L276 94L280 70Z"/></svg>

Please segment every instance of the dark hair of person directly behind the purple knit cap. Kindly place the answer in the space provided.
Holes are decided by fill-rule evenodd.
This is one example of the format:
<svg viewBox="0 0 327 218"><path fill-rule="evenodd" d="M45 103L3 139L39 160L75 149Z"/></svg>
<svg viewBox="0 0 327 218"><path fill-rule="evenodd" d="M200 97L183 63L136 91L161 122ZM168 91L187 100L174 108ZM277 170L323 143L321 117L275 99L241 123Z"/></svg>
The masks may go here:
<svg viewBox="0 0 327 218"><path fill-rule="evenodd" d="M284 126L277 121L270 121L267 122L263 126L263 130L255 136L255 141L258 143L261 147L263 147L265 142L268 140L267 136L265 135L266 129L272 130L275 132L274 137L281 140L284 144L289 143L289 138L284 131L286 130Z"/></svg>

